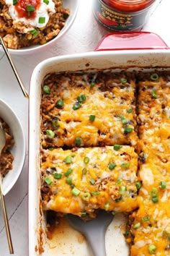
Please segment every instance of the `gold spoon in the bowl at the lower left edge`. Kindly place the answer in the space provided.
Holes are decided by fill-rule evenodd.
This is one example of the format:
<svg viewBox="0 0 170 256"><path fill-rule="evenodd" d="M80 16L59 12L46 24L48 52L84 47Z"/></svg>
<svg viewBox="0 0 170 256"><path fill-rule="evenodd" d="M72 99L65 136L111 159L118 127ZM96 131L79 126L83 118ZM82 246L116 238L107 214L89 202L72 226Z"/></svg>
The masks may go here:
<svg viewBox="0 0 170 256"><path fill-rule="evenodd" d="M4 129L1 125L1 121L0 121L0 157L1 157L1 151L3 150L5 144L6 144L6 136L5 136ZM13 249L13 246L12 246L12 237L11 237L11 233L10 233L10 230L9 230L9 222L8 222L7 213L6 213L6 206L5 206L5 202L4 202L4 195L3 195L3 189L2 189L2 179L1 179L1 170L0 170L0 197L1 197L2 212L3 212L3 216L4 216L4 223L5 223L5 228L6 228L6 236L7 236L8 244L9 244L9 252L10 252L10 254L14 254L14 249Z"/></svg>

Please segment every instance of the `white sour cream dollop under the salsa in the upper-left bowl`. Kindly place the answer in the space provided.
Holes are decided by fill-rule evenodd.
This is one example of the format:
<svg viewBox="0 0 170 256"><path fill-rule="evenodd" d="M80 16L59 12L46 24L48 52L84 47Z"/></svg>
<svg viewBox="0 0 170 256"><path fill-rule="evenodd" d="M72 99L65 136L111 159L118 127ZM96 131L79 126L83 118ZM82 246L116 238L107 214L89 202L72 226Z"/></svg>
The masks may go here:
<svg viewBox="0 0 170 256"><path fill-rule="evenodd" d="M20 15L16 8L17 4L13 4L14 0L6 0L5 2L9 7L9 15L12 17L13 23L23 23L26 25L27 30L32 30L34 27L45 27L50 15L55 13L55 4L53 0L40 0L40 4L35 9L35 17L19 17ZM26 31L24 31L24 33L25 32Z"/></svg>

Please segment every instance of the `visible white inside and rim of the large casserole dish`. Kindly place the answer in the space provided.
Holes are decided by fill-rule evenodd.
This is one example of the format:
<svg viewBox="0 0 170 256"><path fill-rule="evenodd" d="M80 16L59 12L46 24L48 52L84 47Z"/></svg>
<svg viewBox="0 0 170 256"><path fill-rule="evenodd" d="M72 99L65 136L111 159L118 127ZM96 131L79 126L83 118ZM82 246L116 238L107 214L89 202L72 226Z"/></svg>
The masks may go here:
<svg viewBox="0 0 170 256"><path fill-rule="evenodd" d="M45 236L45 223L40 211L40 87L43 77L50 72L65 72L91 69L169 69L170 51L98 51L85 54L58 56L42 61L35 67L30 81L30 153L29 153L29 255L42 256L92 256L83 236L69 228L66 223L58 226L55 239ZM125 217L115 216L107 229L107 256L128 256L129 251L123 233Z"/></svg>

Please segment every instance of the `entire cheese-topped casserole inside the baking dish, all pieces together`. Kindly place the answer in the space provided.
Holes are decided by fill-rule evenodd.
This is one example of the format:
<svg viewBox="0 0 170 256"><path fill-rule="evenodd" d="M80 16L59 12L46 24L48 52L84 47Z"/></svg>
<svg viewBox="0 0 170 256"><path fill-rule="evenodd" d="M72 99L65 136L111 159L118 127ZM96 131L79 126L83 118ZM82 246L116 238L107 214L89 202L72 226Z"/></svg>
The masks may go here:
<svg viewBox="0 0 170 256"><path fill-rule="evenodd" d="M170 254L169 72L50 74L42 83L42 209L130 213L131 256Z"/></svg>

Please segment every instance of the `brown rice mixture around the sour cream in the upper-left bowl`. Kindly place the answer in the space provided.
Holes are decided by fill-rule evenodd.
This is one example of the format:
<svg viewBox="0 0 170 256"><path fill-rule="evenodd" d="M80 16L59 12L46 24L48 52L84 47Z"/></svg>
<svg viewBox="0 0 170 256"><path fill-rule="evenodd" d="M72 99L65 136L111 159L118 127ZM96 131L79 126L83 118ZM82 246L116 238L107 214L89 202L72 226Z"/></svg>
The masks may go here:
<svg viewBox="0 0 170 256"><path fill-rule="evenodd" d="M69 9L63 8L62 0L53 0L55 3L55 14L52 14L45 27L35 27L37 35L27 31L27 25L22 22L14 24L9 15L9 8L4 0L0 0L0 35L7 48L19 49L35 44L45 44L55 38L65 26L69 15ZM25 33L27 31L27 33Z"/></svg>

